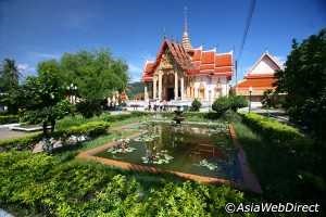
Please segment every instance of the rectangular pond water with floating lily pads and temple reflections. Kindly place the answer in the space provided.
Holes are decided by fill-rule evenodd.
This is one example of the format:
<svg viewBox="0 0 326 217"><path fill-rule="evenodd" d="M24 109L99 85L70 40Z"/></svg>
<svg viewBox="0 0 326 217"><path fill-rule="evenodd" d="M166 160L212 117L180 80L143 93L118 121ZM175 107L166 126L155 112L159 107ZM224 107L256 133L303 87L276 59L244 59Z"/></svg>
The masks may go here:
<svg viewBox="0 0 326 217"><path fill-rule="evenodd" d="M120 140L98 156L236 182L241 179L226 124L208 127L147 123L139 129L138 138Z"/></svg>

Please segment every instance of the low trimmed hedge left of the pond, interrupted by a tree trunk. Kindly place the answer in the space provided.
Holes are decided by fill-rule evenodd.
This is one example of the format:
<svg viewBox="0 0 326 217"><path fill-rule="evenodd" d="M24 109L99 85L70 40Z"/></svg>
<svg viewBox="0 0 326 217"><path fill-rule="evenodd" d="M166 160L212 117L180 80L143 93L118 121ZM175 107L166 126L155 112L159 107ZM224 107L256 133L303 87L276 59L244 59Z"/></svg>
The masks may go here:
<svg viewBox="0 0 326 217"><path fill-rule="evenodd" d="M54 138L68 137L71 135L87 135L89 137L97 137L106 132L110 127L105 122L90 122L80 126L73 126L66 130L54 131L51 136ZM42 133L34 133L23 138L8 139L0 141L0 151L11 149L15 150L30 150L33 144L42 138Z"/></svg>

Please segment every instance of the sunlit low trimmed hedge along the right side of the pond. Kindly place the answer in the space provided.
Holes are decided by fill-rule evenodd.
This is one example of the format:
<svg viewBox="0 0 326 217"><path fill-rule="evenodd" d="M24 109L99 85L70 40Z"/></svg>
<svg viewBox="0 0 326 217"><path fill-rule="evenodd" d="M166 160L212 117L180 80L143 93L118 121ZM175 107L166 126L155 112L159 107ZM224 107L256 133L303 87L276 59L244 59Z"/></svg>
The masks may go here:
<svg viewBox="0 0 326 217"><path fill-rule="evenodd" d="M287 142L303 139L303 135L297 128L255 113L242 114L242 120L250 128L272 141Z"/></svg>

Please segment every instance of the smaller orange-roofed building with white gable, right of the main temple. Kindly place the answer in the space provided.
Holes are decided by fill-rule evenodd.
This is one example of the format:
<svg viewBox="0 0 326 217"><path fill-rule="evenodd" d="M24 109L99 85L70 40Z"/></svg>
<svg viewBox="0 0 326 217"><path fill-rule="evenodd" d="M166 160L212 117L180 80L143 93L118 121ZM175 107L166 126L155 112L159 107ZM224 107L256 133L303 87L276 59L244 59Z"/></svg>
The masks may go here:
<svg viewBox="0 0 326 217"><path fill-rule="evenodd" d="M264 91L275 90L275 73L283 68L277 59L268 52L264 52L262 56L247 72L243 80L239 81L235 87L236 93L244 95L256 105L260 105Z"/></svg>

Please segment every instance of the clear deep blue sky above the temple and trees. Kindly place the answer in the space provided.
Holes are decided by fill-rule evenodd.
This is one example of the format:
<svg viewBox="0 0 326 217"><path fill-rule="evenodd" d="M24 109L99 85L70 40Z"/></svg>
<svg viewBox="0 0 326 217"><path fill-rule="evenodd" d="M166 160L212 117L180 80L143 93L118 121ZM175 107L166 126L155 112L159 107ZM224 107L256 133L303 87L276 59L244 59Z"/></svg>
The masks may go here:
<svg viewBox="0 0 326 217"><path fill-rule="evenodd" d="M141 78L164 35L180 40L184 8L192 47L234 50L237 59L251 0L0 0L0 60L14 59L23 77L65 52L108 48ZM326 27L325 0L256 0L238 60L238 79L264 51L286 61L293 38ZM235 79L234 79L235 80Z"/></svg>

